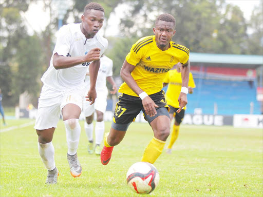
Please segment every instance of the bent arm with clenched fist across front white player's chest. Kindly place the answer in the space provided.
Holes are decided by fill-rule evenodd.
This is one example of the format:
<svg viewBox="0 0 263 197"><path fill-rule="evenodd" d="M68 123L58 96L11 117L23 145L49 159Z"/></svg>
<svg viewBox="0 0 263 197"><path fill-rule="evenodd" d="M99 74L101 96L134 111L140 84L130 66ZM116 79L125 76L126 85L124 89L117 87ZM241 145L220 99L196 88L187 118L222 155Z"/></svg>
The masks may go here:
<svg viewBox="0 0 263 197"><path fill-rule="evenodd" d="M65 57L55 53L53 56L53 66L55 69L65 69L70 68L84 62L92 62L99 60L100 58L100 48L91 49L86 55L78 57Z"/></svg>

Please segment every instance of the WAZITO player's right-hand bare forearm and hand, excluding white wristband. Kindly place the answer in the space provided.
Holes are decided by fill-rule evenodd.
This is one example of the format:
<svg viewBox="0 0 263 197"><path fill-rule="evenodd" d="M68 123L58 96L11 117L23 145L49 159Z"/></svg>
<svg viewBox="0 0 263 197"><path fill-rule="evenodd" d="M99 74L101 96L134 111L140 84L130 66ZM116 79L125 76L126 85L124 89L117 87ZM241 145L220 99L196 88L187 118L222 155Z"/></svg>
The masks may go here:
<svg viewBox="0 0 263 197"><path fill-rule="evenodd" d="M190 62L187 61L185 64L181 65L181 76L182 76L182 87L188 87L190 73ZM187 94L181 92L178 97L179 109L176 111L179 113L182 108L187 104Z"/></svg>

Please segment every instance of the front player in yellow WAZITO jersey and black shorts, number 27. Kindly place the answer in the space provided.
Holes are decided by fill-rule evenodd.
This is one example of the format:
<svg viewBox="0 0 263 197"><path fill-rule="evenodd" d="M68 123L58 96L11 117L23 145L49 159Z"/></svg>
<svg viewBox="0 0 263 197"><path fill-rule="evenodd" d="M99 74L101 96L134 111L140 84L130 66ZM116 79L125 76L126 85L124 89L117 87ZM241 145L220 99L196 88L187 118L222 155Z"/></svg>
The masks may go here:
<svg viewBox="0 0 263 197"><path fill-rule="evenodd" d="M175 18L170 14L157 17L153 36L137 41L126 56L121 68L124 83L119 92L110 132L105 134L101 163L107 165L114 146L118 145L136 116L143 111L145 119L154 131L154 137L144 150L142 162L153 164L162 153L170 134L170 109L165 101L163 80L166 72L180 62L182 90L179 95L180 108L187 104L189 81L189 49L172 42L175 35Z"/></svg>

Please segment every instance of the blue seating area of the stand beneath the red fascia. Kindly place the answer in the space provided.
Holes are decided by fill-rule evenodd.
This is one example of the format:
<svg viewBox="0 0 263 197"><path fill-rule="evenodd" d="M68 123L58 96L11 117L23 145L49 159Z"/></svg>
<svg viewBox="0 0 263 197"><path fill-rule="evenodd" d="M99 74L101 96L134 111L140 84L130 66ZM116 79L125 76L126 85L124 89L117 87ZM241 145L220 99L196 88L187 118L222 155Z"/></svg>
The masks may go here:
<svg viewBox="0 0 263 197"><path fill-rule="evenodd" d="M260 105L256 100L256 87L250 81L230 81L195 79L194 94L188 96L187 113L194 113L195 108L201 108L203 114L250 114L251 103L254 104L253 114L260 114Z"/></svg>

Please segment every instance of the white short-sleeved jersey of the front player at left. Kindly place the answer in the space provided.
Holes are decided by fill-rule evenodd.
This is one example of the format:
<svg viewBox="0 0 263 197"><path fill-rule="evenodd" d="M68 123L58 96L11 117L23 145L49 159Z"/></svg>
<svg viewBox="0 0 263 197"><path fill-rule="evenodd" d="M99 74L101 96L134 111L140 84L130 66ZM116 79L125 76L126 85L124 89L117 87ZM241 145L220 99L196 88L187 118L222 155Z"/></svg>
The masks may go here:
<svg viewBox="0 0 263 197"><path fill-rule="evenodd" d="M108 47L108 41L98 33L93 38L87 39L81 32L80 23L64 25L59 30L50 66L41 81L50 89L60 91L84 87L85 75L91 62L56 70L53 66L53 56L55 53L72 57L83 56L96 47L101 49L100 55L102 55Z"/></svg>

